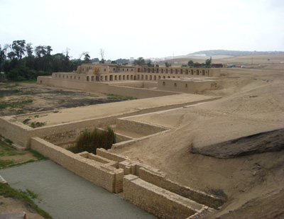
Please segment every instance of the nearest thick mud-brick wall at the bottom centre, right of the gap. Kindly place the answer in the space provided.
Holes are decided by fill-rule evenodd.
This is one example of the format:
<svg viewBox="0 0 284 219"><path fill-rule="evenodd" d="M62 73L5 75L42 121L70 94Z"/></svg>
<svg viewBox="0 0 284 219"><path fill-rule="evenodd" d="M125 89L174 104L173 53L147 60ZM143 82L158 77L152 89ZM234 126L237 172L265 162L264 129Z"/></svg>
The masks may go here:
<svg viewBox="0 0 284 219"><path fill-rule="evenodd" d="M187 218L203 208L131 174L124 176L124 199L158 218Z"/></svg>

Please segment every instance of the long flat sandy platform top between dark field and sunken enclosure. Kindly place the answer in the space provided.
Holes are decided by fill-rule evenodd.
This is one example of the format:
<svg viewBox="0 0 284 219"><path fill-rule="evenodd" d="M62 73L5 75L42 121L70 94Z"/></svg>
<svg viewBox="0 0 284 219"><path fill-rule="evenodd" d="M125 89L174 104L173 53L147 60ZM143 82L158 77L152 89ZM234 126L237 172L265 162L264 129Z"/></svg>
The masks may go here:
<svg viewBox="0 0 284 219"><path fill-rule="evenodd" d="M135 113L146 108L155 108L158 106L168 106L173 104L182 104L195 101L207 101L212 96L203 96L196 94L178 94L174 96L161 96L151 99L138 99L133 101L124 101L123 103L107 103L96 106L84 106L77 108L65 108L57 111L57 113L43 112L33 116L17 116L17 120L23 121L31 118L29 123L38 122L45 123L45 126L56 125L60 123L70 123L79 120L87 120L91 118L102 118L119 114ZM35 117L36 116L36 117Z"/></svg>

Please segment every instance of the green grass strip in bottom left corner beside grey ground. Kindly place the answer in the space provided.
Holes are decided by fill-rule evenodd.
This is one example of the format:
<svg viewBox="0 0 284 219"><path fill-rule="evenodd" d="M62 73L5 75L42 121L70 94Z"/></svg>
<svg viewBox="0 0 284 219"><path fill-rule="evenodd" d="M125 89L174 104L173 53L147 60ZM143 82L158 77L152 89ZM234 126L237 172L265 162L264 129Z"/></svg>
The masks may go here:
<svg viewBox="0 0 284 219"><path fill-rule="evenodd" d="M18 200L23 201L26 203L28 206L33 208L39 215L43 216L43 218L52 218L47 212L45 212L43 209L39 208L33 200L29 197L33 192L28 192L23 193L21 191L17 191L16 189L11 188L7 184L2 184L0 183L0 195L4 197L9 197L9 198L15 198Z"/></svg>

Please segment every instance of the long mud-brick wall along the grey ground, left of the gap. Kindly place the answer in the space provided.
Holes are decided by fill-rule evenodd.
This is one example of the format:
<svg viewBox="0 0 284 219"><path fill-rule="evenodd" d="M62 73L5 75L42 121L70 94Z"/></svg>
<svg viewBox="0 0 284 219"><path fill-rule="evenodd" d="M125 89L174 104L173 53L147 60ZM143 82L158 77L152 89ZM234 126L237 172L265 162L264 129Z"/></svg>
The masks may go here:
<svg viewBox="0 0 284 219"><path fill-rule="evenodd" d="M111 193L122 191L123 169L116 169L108 164L102 164L102 162L96 162L93 159L75 155L39 137L31 138L31 149L40 152L40 154L52 159L62 167L82 176L97 186L107 189Z"/></svg>

